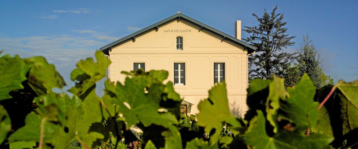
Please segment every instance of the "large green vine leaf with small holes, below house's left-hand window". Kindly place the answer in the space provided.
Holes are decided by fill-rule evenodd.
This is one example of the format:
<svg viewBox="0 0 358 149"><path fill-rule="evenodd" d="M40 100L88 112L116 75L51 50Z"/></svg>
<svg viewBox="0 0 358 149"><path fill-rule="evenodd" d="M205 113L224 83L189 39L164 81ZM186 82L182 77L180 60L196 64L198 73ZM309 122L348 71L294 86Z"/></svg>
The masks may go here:
<svg viewBox="0 0 358 149"><path fill-rule="evenodd" d="M108 93L115 95L112 103L119 105L118 109L125 118L127 129L129 129L128 126L135 125L139 121L144 126L158 124L168 127L170 124L178 124L174 115L170 113L158 113L160 109L159 100L151 99L151 96L146 96L144 93L147 83L148 81L142 77L127 77L125 85L117 82L114 90L113 87L108 87L108 89L111 89L107 90Z"/></svg>

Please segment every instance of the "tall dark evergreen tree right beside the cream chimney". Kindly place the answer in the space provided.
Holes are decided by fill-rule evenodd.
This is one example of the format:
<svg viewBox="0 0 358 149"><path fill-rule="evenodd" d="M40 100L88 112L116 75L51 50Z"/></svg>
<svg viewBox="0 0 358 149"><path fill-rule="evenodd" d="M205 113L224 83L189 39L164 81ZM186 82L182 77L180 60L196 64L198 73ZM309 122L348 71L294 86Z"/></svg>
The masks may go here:
<svg viewBox="0 0 358 149"><path fill-rule="evenodd" d="M291 39L295 36L286 34L287 28L284 28L287 22L283 22L284 14L276 14L277 6L267 13L266 9L263 15L258 17L252 14L258 21L258 26L244 26L250 37L244 41L257 47L257 54L249 57L249 79L261 78L270 79L273 74L281 77L286 76L286 70L295 59L295 53L287 53L284 50L292 46L295 42Z"/></svg>

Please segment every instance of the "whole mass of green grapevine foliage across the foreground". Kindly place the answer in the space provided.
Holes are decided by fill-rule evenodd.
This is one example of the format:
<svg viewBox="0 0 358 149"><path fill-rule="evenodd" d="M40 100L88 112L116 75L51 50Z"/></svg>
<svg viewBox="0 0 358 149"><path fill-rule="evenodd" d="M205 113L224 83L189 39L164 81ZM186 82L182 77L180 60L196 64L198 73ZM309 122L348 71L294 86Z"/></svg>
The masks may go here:
<svg viewBox="0 0 358 149"><path fill-rule="evenodd" d="M286 90L276 76L252 80L246 123L230 113L224 82L209 90L196 118L180 116L182 99L172 82L163 84L163 70L123 72L129 75L124 84L107 80L105 95L98 97L96 83L110 61L100 51L95 56L96 63L81 60L72 71L72 97L52 91L66 84L44 58L2 56L0 148L66 148L73 139L84 148L108 142L125 148L113 138L138 140L133 125L143 131L140 147L147 149L338 148L358 141L358 81L316 90L304 75Z"/></svg>

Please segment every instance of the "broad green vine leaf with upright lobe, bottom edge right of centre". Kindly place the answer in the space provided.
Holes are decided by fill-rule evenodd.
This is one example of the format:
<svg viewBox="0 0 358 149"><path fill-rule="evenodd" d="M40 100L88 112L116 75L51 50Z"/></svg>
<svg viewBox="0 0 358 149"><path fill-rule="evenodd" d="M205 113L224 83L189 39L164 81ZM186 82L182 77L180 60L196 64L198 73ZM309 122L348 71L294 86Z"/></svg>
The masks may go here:
<svg viewBox="0 0 358 149"><path fill-rule="evenodd" d="M266 133L265 121L262 111L258 110L257 116L250 121L250 126L246 131L246 143L248 145L259 149L329 148L328 144L333 140L332 137L323 134L303 136L301 133L288 130L280 131L270 137Z"/></svg>

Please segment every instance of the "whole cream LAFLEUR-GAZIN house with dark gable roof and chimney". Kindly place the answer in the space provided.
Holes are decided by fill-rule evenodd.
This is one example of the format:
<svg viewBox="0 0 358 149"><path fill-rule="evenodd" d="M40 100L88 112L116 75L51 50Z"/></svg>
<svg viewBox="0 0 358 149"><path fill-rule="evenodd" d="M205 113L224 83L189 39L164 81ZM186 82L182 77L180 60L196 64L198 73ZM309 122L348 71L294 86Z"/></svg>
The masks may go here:
<svg viewBox="0 0 358 149"><path fill-rule="evenodd" d="M197 114L208 90L225 79L229 107L235 116L247 111L247 56L256 48L241 41L241 21L235 38L178 12L156 24L100 48L112 63L111 81L123 82L121 71L167 70L166 81L186 101L184 114Z"/></svg>

